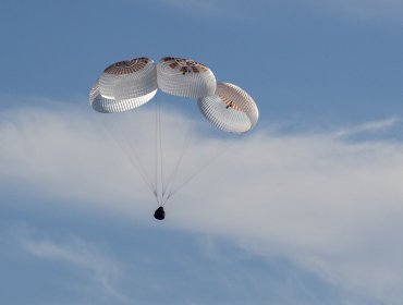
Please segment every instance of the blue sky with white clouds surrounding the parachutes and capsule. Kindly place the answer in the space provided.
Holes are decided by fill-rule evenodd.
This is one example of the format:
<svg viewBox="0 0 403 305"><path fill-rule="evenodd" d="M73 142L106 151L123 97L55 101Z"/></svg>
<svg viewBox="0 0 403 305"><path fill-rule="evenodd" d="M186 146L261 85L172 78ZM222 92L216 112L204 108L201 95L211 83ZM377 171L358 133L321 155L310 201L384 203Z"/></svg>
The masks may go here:
<svg viewBox="0 0 403 305"><path fill-rule="evenodd" d="M402 304L401 1L0 8L1 304ZM260 111L163 222L88 106L142 56L200 61ZM223 145L196 132L184 171Z"/></svg>

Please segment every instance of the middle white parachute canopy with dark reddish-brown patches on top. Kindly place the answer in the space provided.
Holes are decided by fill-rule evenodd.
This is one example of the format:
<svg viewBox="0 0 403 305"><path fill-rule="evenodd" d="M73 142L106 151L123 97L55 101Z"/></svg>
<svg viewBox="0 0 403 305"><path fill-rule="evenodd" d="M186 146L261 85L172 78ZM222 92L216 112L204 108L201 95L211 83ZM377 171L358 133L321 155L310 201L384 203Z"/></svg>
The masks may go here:
<svg viewBox="0 0 403 305"><path fill-rule="evenodd" d="M158 87L170 95L202 98L213 95L216 77L209 68L191 59L166 57L157 64Z"/></svg>

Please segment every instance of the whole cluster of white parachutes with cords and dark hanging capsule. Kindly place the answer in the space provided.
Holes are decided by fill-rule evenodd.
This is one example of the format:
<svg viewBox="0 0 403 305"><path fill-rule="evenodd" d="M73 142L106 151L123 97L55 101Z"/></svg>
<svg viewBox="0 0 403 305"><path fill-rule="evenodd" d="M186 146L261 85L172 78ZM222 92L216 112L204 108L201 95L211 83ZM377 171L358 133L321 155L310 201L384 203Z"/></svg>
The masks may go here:
<svg viewBox="0 0 403 305"><path fill-rule="evenodd" d="M222 132L244 134L258 121L257 106L245 90L230 83L217 83L215 74L207 65L184 58L164 57L157 64L146 57L115 62L105 69L94 83L89 91L89 103L95 111L101 113L136 111L136 108L155 99L158 89L170 96L197 99L202 114ZM156 109L160 111L159 107ZM157 142L161 138L159 115L158 112ZM172 181L163 181L163 160L159 151L161 146L160 142L155 147L156 156L160 156L159 160L156 159L155 168L160 167L161 173L158 175L156 170L154 181L150 181L149 176L142 174L139 168L144 181L156 196L158 208L154 216L158 220L164 219L163 205L180 188L173 190Z"/></svg>

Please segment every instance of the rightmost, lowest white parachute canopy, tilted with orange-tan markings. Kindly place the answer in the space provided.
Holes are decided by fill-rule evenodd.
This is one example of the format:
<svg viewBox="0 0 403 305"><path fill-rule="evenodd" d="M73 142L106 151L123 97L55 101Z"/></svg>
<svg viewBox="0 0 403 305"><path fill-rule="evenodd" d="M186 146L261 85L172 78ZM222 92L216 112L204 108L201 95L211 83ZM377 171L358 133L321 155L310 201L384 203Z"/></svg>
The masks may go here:
<svg viewBox="0 0 403 305"><path fill-rule="evenodd" d="M259 117L254 99L230 83L218 83L215 95L199 98L197 102L203 115L224 132L247 132Z"/></svg>

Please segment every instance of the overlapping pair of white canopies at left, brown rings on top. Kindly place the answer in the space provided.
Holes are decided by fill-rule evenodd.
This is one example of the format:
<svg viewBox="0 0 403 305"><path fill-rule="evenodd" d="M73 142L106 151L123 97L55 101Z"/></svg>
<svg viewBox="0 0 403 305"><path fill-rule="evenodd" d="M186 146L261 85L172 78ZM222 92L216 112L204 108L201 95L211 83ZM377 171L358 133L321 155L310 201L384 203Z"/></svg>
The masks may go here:
<svg viewBox="0 0 403 305"><path fill-rule="evenodd" d="M93 85L89 103L105 113L122 112L149 101L157 93L157 69L149 58L109 65Z"/></svg>

